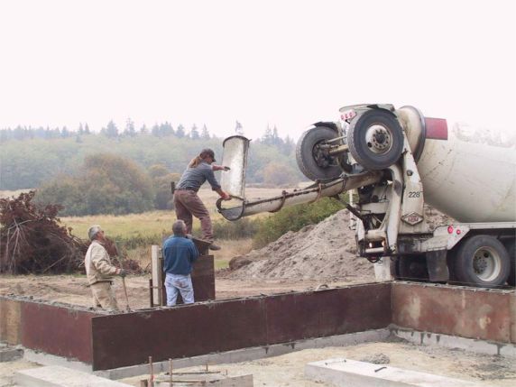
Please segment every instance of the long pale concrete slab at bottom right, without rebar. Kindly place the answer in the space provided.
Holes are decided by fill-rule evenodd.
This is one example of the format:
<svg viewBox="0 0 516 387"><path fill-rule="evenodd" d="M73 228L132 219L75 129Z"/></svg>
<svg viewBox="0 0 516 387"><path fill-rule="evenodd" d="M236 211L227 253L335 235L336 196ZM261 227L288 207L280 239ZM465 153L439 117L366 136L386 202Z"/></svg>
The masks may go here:
<svg viewBox="0 0 516 387"><path fill-rule="evenodd" d="M339 387L480 387L475 382L344 358L309 363L305 375Z"/></svg>

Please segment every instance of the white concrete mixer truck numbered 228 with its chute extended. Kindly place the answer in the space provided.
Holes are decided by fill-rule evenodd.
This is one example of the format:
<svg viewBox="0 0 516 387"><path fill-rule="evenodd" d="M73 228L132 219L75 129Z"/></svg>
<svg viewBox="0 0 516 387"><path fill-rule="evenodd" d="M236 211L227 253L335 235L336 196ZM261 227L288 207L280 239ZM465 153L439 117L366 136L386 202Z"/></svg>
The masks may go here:
<svg viewBox="0 0 516 387"><path fill-rule="evenodd" d="M425 117L413 106L345 106L340 120L313 124L297 144L299 169L314 184L253 201L244 194L248 147L242 136L224 143L231 170L222 186L238 201L217 202L226 219L356 189L347 207L357 256L375 263L377 279L514 286L513 138ZM430 229L425 203L456 221Z"/></svg>

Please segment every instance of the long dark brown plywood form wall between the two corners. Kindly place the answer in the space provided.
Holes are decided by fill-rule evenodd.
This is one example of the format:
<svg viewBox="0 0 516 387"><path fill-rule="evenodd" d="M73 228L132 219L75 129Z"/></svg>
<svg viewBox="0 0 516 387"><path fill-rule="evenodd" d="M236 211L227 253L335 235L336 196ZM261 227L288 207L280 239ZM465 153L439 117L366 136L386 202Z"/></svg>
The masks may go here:
<svg viewBox="0 0 516 387"><path fill-rule="evenodd" d="M390 289L377 283L93 318L93 369L386 327Z"/></svg>

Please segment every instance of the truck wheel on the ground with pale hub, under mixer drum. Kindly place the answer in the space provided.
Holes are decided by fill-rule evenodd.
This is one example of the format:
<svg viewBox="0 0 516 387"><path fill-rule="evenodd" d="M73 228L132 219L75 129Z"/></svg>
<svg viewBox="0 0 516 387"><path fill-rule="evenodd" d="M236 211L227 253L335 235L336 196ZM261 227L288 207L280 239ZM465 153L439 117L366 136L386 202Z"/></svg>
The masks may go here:
<svg viewBox="0 0 516 387"><path fill-rule="evenodd" d="M464 285L481 288L502 286L511 270L509 253L491 235L466 239L456 252L456 278Z"/></svg>

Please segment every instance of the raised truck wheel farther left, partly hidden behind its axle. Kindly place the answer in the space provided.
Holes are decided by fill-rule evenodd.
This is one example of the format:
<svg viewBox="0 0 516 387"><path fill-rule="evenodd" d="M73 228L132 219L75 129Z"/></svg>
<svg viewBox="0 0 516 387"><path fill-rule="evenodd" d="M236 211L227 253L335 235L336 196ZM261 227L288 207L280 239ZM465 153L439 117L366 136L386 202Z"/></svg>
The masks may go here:
<svg viewBox="0 0 516 387"><path fill-rule="evenodd" d="M296 160L299 170L309 180L336 179L342 173L336 157L325 155L317 146L319 143L336 138L336 136L336 131L333 129L327 126L318 126L309 129L299 138Z"/></svg>

